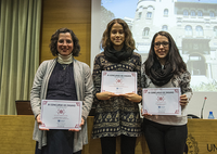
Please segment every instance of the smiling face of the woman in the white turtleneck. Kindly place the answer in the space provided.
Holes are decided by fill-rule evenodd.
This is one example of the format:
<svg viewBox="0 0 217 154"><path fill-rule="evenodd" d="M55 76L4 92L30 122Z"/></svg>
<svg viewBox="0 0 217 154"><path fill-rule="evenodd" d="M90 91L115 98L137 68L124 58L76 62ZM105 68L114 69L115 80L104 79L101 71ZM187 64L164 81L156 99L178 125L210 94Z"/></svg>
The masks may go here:
<svg viewBox="0 0 217 154"><path fill-rule="evenodd" d="M73 52L74 43L69 33L61 33L58 40L58 52L61 55L68 55Z"/></svg>

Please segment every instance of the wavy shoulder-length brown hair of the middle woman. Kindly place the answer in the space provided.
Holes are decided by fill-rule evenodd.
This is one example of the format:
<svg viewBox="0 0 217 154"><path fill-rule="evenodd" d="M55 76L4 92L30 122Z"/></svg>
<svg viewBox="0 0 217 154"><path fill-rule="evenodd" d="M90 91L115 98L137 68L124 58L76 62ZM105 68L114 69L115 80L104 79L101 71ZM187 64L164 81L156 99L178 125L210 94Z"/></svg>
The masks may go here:
<svg viewBox="0 0 217 154"><path fill-rule="evenodd" d="M123 21L120 18L114 18L113 21L111 21L107 24L107 27L106 27L105 31L103 33L103 36L102 36L101 48L106 49L106 48L112 47L110 34L111 34L112 26L116 23L120 24L123 26L124 31L125 31L125 42L124 42L125 48L127 50L135 50L136 49L135 40L132 38L132 34L129 29L129 26L127 25L127 23L125 21Z"/></svg>

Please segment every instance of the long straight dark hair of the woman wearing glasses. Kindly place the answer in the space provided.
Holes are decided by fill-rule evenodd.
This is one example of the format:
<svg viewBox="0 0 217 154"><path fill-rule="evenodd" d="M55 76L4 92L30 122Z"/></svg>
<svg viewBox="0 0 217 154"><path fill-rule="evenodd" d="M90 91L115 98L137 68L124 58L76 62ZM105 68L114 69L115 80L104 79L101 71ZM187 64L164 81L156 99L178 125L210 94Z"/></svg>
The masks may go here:
<svg viewBox="0 0 217 154"><path fill-rule="evenodd" d="M179 73L183 73L187 70L187 65L186 63L183 62L180 53L179 53L179 50L173 39L173 37L170 36L169 33L167 31L158 31L154 35L153 39L152 39L152 44L151 44L151 49L150 49L150 52L149 52L149 56L146 59L146 61L144 62L144 65L145 65L145 74L148 76L150 76L150 68L153 66L153 64L158 61L157 60L157 56L154 52L154 40L157 36L164 36L168 39L169 41L169 52L166 56L167 61L166 62L169 62L171 64L171 68L173 68L173 73L174 74L179 74Z"/></svg>

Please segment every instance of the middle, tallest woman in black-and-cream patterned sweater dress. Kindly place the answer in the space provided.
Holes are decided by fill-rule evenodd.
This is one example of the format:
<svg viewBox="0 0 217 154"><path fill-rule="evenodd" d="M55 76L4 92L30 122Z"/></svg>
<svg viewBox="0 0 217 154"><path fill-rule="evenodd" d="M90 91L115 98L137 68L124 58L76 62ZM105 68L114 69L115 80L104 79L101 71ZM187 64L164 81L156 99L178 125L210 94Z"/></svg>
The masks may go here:
<svg viewBox="0 0 217 154"><path fill-rule="evenodd" d="M101 52L93 67L95 115L93 139L101 139L102 154L115 154L116 137L120 137L122 154L133 154L137 137L141 134L138 103L141 101L141 55L133 52L135 40L126 22L115 18L103 34ZM101 92L102 70L137 72L137 93Z"/></svg>

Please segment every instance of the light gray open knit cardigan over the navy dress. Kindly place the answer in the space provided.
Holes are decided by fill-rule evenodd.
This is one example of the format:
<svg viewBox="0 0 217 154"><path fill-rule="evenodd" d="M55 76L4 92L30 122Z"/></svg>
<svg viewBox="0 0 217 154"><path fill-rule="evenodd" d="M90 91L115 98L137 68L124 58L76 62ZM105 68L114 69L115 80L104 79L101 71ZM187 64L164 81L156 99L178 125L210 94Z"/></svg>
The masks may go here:
<svg viewBox="0 0 217 154"><path fill-rule="evenodd" d="M77 60L74 63L74 78L78 101L82 101L82 118L87 119L92 106L93 84L90 68L87 64ZM41 100L46 99L48 82L53 68L56 64L56 59L44 61L38 67L35 75L34 85L30 91L30 104L35 117L40 114ZM47 131L38 129L37 120L35 121L33 139L38 141L38 147L47 145ZM87 123L82 126L79 132L74 136L74 152L82 150L82 145L88 143Z"/></svg>

